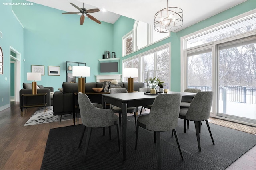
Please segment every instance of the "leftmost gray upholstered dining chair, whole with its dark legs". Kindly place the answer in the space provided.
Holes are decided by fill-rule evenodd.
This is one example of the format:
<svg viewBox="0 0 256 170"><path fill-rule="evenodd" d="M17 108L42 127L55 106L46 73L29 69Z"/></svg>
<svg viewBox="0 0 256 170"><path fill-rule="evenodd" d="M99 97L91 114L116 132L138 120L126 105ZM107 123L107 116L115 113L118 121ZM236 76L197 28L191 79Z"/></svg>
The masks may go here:
<svg viewBox="0 0 256 170"><path fill-rule="evenodd" d="M78 93L78 104L80 108L82 123L85 126L80 139L79 147L81 146L85 129L86 127L88 128L85 150L84 150L84 161L86 159L86 153L89 146L92 128L109 127L110 129L111 126L116 125L118 147L120 151L120 133L119 133L119 126L118 126L118 122L119 122L118 116L115 115L114 112L110 109L98 108L100 107L100 104L92 104L88 96L81 92Z"/></svg>

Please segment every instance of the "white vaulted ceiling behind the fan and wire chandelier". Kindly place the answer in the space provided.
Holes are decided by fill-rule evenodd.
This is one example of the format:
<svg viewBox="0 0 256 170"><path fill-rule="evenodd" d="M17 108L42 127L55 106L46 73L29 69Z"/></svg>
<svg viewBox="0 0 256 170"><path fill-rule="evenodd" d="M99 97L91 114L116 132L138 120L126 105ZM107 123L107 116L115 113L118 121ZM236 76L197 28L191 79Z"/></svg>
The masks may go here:
<svg viewBox="0 0 256 170"><path fill-rule="evenodd" d="M64 12L77 12L70 4L86 9L99 8L101 11L91 15L100 21L115 23L122 15L134 20L154 25L154 15L163 8L167 8L167 0L28 0ZM206 18L214 16L246 0L169 0L169 7L179 7L184 12L183 26L180 31ZM84 4L83 4L84 3ZM102 9L106 9L103 12ZM76 15L76 14L72 14Z"/></svg>

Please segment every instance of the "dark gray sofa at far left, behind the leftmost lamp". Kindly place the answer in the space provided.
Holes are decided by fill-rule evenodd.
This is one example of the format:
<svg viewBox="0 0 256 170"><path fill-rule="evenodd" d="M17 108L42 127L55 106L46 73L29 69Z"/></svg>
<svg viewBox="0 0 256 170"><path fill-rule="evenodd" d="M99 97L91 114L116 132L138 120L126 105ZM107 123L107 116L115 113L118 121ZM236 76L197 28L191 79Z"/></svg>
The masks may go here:
<svg viewBox="0 0 256 170"><path fill-rule="evenodd" d="M39 86L39 89L37 89L37 93L47 93L47 106L53 105L53 87L44 87L42 85L38 85L38 86ZM21 101L22 94L32 94L32 83L23 83L23 89L20 89L20 101ZM34 98L27 98L27 100L24 102L26 105L37 104L38 101L42 101L41 98L43 98L43 96L37 96L37 98L38 100L35 100ZM20 102L20 108L21 108L21 102Z"/></svg>

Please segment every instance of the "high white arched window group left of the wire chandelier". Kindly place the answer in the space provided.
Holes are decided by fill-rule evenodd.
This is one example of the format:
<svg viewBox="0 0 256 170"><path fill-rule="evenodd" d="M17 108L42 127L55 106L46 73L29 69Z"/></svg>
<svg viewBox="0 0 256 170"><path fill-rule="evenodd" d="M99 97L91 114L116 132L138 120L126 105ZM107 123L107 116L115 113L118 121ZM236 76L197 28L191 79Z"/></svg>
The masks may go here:
<svg viewBox="0 0 256 170"><path fill-rule="evenodd" d="M154 25L135 21L133 31L123 37L123 56L166 37L170 37L170 33L159 33L154 30Z"/></svg>

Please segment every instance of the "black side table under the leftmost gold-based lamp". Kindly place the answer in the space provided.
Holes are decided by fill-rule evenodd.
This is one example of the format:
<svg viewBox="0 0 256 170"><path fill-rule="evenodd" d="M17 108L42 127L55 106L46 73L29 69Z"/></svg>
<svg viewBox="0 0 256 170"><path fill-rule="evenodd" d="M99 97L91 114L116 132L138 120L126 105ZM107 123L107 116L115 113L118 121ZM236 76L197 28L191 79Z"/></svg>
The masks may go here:
<svg viewBox="0 0 256 170"><path fill-rule="evenodd" d="M36 104L28 104L27 98L38 98L38 96L43 96L43 101ZM38 99L36 99L38 100ZM21 116L24 116L24 109L29 107L44 107L44 112L47 113L47 93L39 93L39 94L22 94L21 95Z"/></svg>

